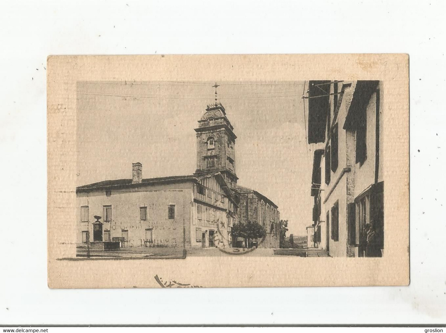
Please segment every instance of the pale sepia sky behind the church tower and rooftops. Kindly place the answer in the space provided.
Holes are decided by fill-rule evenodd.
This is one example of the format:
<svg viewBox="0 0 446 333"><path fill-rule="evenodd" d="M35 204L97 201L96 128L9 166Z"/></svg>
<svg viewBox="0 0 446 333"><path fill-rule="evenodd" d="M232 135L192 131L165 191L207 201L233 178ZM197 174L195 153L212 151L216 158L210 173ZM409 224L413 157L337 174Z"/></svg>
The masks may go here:
<svg viewBox="0 0 446 333"><path fill-rule="evenodd" d="M132 162L142 163L144 178L193 174L194 128L215 102L214 84L78 82L77 185L132 178ZM238 183L279 206L281 219L289 220L287 236L306 235L313 152L306 144L304 82L218 84L219 102L237 135Z"/></svg>

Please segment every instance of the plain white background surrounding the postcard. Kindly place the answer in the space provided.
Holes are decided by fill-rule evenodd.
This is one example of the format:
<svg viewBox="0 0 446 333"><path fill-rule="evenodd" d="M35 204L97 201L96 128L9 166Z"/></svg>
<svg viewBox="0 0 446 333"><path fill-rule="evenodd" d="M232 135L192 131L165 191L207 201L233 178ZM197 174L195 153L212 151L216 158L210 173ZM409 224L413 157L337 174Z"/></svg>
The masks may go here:
<svg viewBox="0 0 446 333"><path fill-rule="evenodd" d="M434 0L1 4L0 325L445 323L444 14ZM409 53L410 286L47 288L46 57L154 53Z"/></svg>

